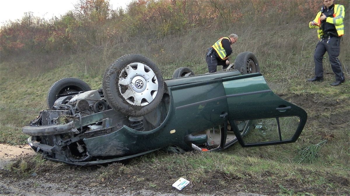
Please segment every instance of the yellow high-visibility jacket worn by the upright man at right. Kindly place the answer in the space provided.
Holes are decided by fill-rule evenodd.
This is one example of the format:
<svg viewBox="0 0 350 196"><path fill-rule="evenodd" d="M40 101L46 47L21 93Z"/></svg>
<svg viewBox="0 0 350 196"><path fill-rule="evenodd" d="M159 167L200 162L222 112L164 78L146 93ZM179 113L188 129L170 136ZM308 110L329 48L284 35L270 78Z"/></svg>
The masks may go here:
<svg viewBox="0 0 350 196"><path fill-rule="evenodd" d="M316 15L316 18L314 19L313 22L320 25L321 24L321 15L322 15L321 11L318 12ZM339 4L335 4L333 17L326 18L326 22L335 25L335 29L337 30L339 37L344 35L344 22L343 22L344 16L345 16L344 6L339 5ZM317 25L312 26L311 22L309 23L309 28L318 28L317 29L318 38L320 38L323 35L322 29Z"/></svg>

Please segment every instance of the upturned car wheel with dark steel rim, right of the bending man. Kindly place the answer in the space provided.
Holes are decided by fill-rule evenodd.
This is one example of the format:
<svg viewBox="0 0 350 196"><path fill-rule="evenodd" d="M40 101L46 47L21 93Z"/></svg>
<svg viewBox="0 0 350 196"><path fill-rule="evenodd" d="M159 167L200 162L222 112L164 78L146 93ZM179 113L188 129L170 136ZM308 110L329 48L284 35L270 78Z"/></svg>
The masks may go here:
<svg viewBox="0 0 350 196"><path fill-rule="evenodd" d="M259 62L257 57L252 52L241 52L235 59L235 69L241 74L259 73Z"/></svg>

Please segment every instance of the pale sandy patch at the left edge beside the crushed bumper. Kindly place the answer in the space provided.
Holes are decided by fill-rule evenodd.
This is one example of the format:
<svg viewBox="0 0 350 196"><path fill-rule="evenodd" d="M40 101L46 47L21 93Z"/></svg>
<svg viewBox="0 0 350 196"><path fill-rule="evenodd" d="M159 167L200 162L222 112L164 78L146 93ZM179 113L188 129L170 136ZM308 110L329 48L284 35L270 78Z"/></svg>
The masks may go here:
<svg viewBox="0 0 350 196"><path fill-rule="evenodd" d="M9 146L0 144L0 169L11 162L15 162L16 158L29 154L33 155L35 152L28 145Z"/></svg>

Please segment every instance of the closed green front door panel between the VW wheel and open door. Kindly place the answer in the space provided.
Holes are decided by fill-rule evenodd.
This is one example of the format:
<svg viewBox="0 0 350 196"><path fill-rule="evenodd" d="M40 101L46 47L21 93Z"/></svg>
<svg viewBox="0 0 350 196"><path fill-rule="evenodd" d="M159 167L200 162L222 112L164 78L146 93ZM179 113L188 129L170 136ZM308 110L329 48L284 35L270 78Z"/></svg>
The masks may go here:
<svg viewBox="0 0 350 196"><path fill-rule="evenodd" d="M171 87L178 129L183 127L189 133L223 124L222 115L228 112L222 80L212 75L197 79L195 82L191 81L193 78L177 79L183 84Z"/></svg>

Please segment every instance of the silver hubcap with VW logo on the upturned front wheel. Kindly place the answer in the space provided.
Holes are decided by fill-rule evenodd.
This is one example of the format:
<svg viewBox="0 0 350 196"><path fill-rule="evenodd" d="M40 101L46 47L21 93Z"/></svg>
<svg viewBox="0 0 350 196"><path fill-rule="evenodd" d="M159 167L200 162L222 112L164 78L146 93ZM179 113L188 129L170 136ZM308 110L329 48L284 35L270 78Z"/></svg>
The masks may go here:
<svg viewBox="0 0 350 196"><path fill-rule="evenodd" d="M119 75L120 94L131 105L150 104L158 92L158 80L154 71L144 63L130 63Z"/></svg>

